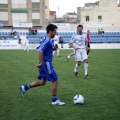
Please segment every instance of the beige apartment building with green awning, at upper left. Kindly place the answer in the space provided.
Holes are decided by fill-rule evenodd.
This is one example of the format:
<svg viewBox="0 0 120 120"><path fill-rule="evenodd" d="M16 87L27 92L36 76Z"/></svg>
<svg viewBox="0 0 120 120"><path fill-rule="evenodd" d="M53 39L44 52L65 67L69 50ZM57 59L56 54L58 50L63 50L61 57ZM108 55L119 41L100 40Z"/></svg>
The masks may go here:
<svg viewBox="0 0 120 120"><path fill-rule="evenodd" d="M0 23L32 23L44 26L49 20L49 0L0 0Z"/></svg>

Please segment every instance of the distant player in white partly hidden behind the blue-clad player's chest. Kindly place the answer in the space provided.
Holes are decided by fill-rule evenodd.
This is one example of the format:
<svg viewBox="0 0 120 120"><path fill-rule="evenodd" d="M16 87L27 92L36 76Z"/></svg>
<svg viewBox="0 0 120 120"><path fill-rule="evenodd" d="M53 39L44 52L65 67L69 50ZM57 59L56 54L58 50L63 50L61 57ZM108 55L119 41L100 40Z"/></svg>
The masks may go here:
<svg viewBox="0 0 120 120"><path fill-rule="evenodd" d="M57 51L57 56L60 57L60 48L59 48L59 40L60 36L58 35L58 32L56 33L55 37L53 38L54 40L54 46L56 46L56 50L53 51L53 56L55 54L55 51Z"/></svg>

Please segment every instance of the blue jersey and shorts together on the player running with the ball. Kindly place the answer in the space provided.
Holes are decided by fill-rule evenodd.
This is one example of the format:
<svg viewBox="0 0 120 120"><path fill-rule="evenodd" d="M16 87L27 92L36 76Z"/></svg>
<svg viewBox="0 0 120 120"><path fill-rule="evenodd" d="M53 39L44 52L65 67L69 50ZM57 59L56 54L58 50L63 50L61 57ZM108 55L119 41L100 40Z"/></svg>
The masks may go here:
<svg viewBox="0 0 120 120"><path fill-rule="evenodd" d="M44 64L39 68L38 79L48 80L54 82L58 80L56 71L52 65L52 53L53 53L54 41L45 36L36 49L43 52Z"/></svg>

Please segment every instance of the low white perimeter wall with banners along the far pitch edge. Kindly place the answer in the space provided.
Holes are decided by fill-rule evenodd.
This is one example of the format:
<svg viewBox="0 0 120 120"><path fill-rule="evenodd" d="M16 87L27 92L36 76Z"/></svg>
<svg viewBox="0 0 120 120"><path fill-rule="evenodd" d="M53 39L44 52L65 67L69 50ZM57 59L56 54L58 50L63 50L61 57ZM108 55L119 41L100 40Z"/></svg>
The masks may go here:
<svg viewBox="0 0 120 120"><path fill-rule="evenodd" d="M0 50L4 49L24 49L25 42L22 41L21 44L18 44L19 42L17 40L0 40ZM91 49L120 49L120 43L91 43ZM39 44L30 44L30 49L36 49L36 47L39 46ZM61 48L61 44L59 44L59 47ZM63 48L61 49L72 49L69 47L69 44L63 44Z"/></svg>

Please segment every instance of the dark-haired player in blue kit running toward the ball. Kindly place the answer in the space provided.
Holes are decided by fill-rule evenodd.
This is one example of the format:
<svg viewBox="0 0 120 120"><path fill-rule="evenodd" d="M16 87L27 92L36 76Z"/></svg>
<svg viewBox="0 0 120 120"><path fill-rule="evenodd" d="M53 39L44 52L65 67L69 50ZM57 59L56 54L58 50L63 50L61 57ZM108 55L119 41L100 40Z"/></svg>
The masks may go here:
<svg viewBox="0 0 120 120"><path fill-rule="evenodd" d="M52 38L56 35L57 26L54 24L49 24L46 27L47 35L44 36L40 46L36 49L38 51L39 64L37 68L39 69L38 80L30 84L20 86L20 94L24 97L25 92L33 87L43 86L47 81L52 82L52 105L64 105L64 102L61 102L57 98L57 87L58 87L58 76L54 67L52 66L52 54L54 44Z"/></svg>

